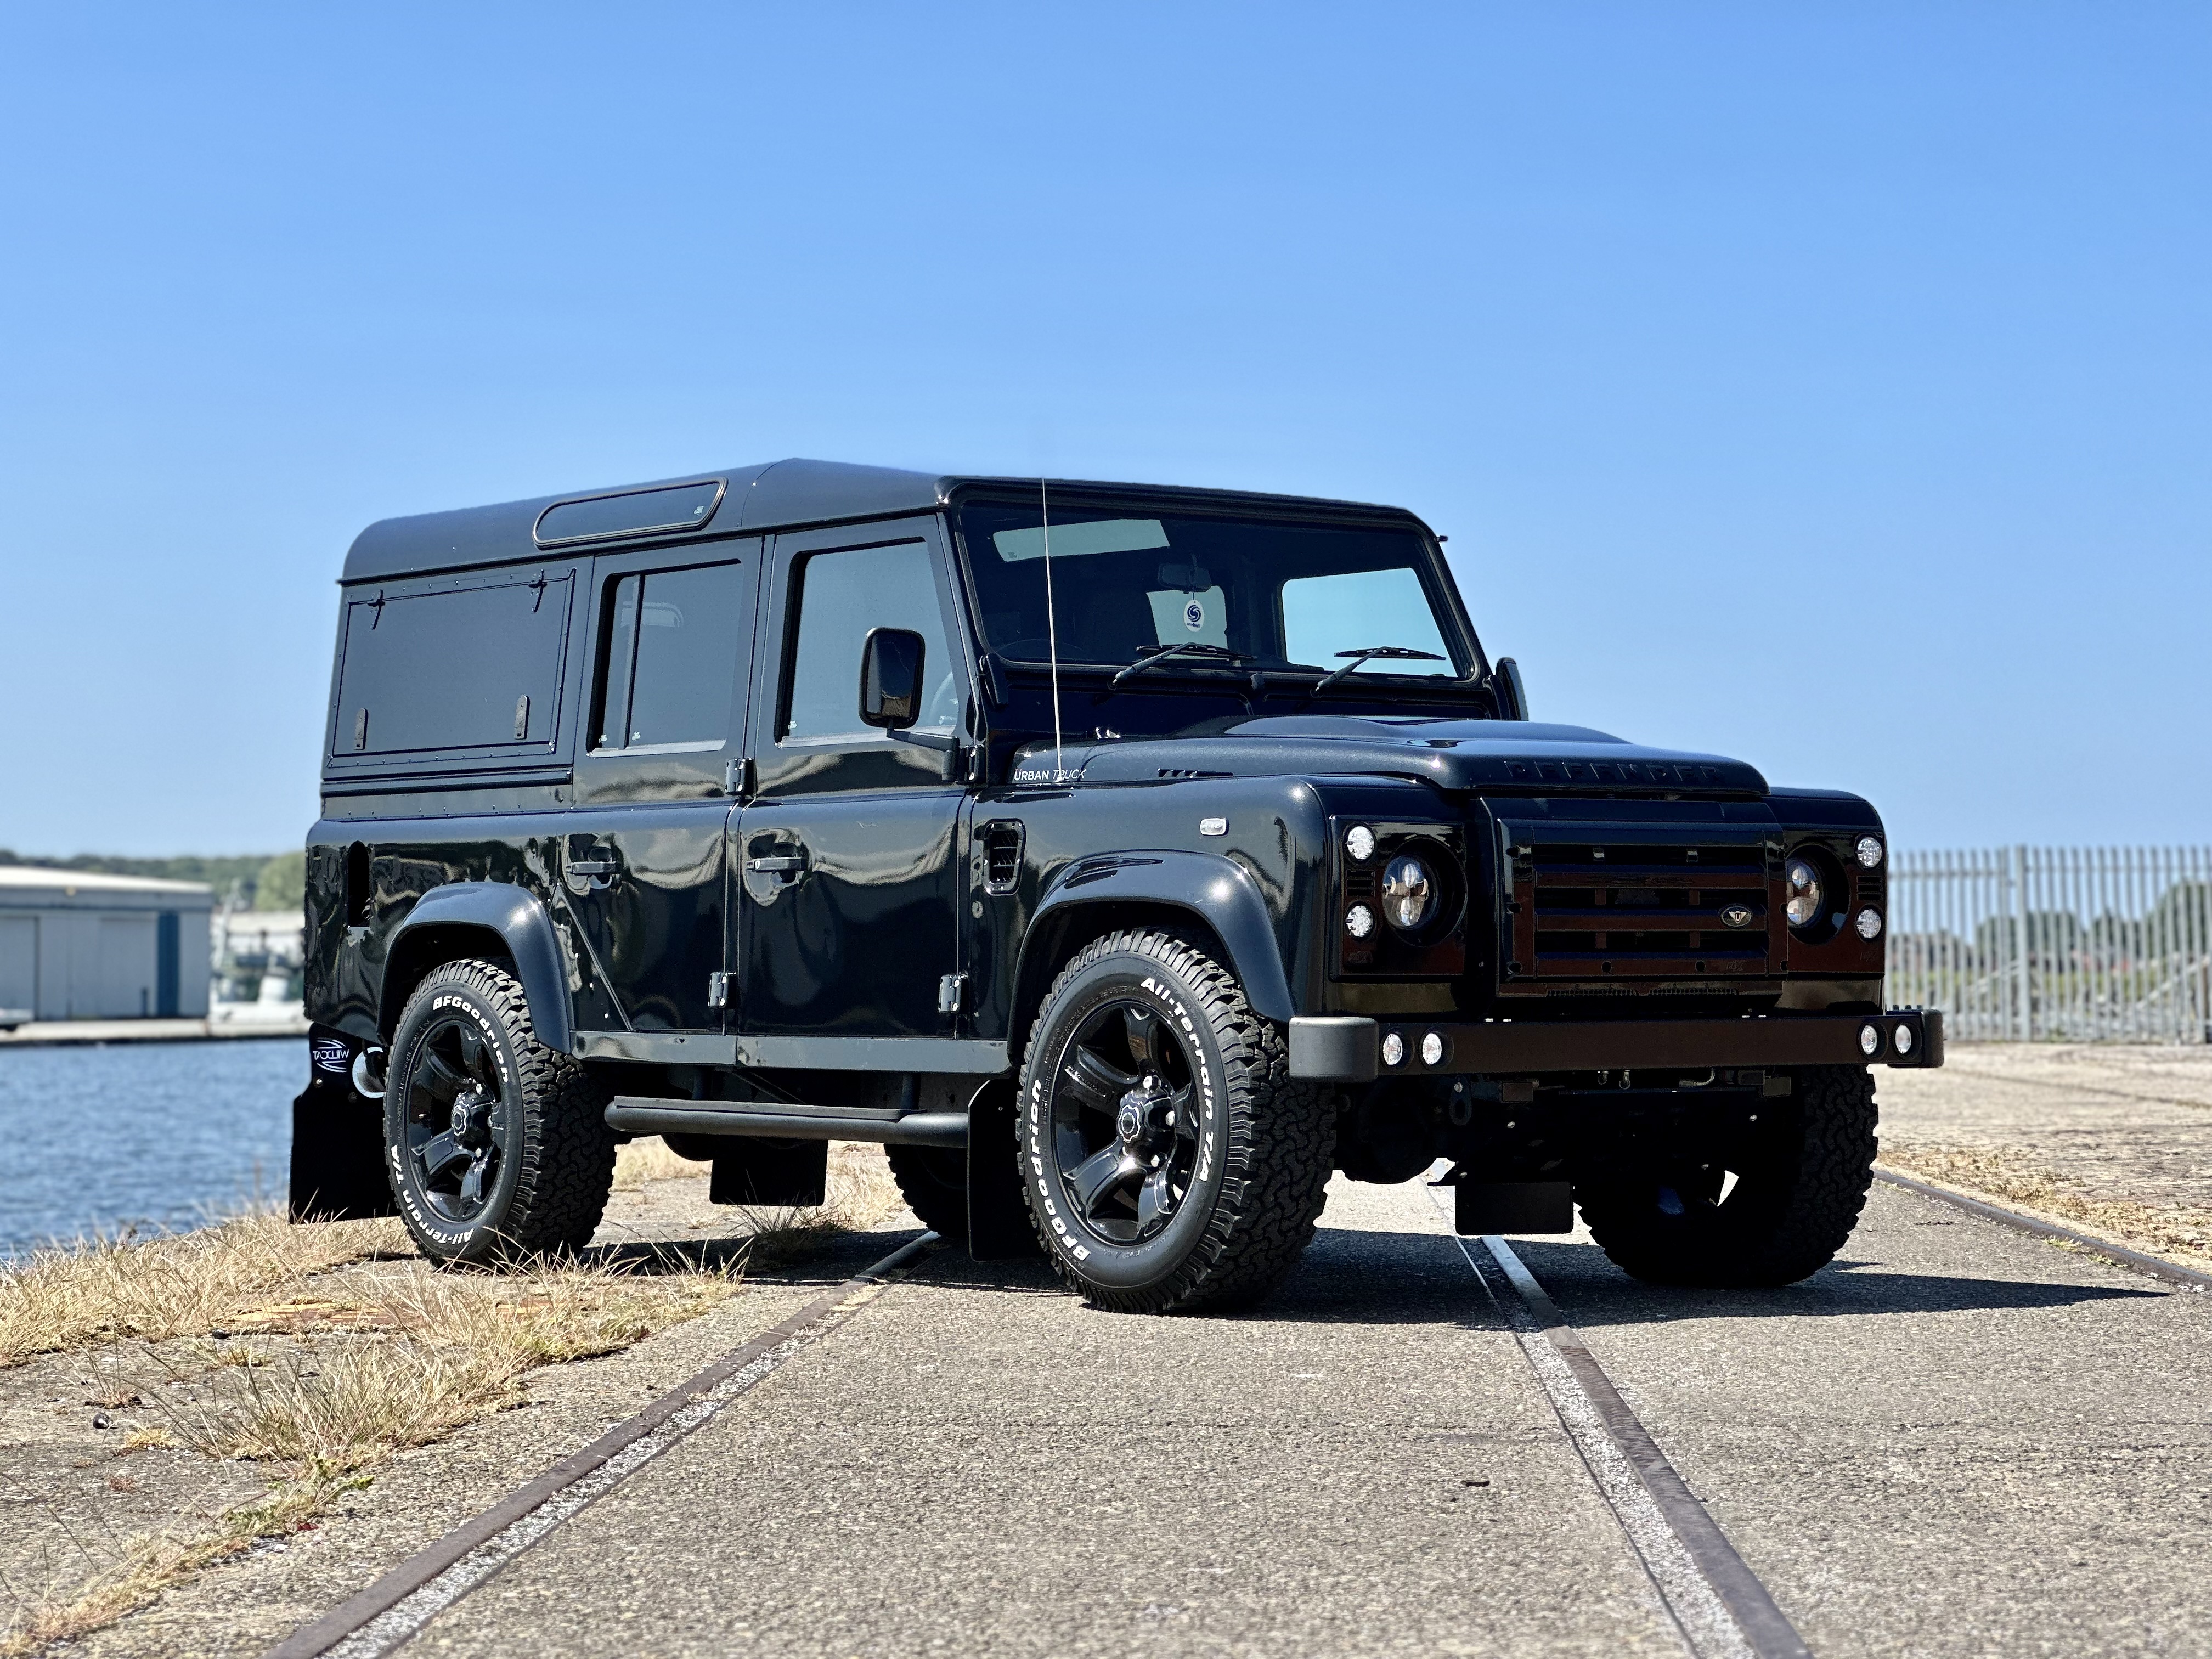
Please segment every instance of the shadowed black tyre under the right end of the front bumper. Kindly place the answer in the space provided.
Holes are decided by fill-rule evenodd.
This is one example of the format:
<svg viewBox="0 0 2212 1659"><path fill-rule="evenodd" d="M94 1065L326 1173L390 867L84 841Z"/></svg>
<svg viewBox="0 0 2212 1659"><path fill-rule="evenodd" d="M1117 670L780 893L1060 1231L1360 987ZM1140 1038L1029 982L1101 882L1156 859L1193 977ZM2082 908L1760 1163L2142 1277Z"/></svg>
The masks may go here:
<svg viewBox="0 0 2212 1659"><path fill-rule="evenodd" d="M1657 1177L1575 1188L1615 1265L1655 1285L1770 1287L1836 1259L1874 1186L1874 1077L1807 1066L1792 1084L1787 1099L1763 1102L1763 1133L1719 1206L1677 1197L1670 1214Z"/></svg>

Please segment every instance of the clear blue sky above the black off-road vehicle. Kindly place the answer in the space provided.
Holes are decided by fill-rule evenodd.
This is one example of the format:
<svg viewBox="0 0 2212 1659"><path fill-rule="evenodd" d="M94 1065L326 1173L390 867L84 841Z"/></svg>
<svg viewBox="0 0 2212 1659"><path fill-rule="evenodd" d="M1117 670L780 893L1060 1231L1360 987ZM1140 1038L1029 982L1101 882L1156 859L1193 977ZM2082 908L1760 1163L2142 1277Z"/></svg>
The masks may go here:
<svg viewBox="0 0 2212 1659"><path fill-rule="evenodd" d="M2212 9L7 7L0 845L314 818L372 518L1389 500L1546 719L2212 841Z"/></svg>

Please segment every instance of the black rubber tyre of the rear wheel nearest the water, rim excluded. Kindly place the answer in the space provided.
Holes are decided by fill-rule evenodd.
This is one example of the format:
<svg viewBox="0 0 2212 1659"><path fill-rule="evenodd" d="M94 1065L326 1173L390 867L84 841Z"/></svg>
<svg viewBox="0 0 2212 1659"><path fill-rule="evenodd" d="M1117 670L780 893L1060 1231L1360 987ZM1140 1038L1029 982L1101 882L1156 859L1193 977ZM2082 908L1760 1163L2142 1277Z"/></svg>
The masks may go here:
<svg viewBox="0 0 2212 1659"><path fill-rule="evenodd" d="M438 1013L467 1013L502 1064L511 1119L491 1203L473 1225L449 1225L409 1179L405 1139L411 1044ZM524 1263L582 1250L615 1183L608 1091L580 1060L546 1048L531 1024L522 984L504 967L445 962L407 998L392 1035L385 1093L385 1175L416 1248L440 1265Z"/></svg>

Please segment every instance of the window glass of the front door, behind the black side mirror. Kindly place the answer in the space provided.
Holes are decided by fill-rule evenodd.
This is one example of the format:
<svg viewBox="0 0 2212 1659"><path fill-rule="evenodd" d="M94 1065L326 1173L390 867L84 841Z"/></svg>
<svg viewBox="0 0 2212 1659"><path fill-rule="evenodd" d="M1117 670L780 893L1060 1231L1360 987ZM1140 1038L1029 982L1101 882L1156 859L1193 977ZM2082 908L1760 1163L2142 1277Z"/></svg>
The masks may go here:
<svg viewBox="0 0 2212 1659"><path fill-rule="evenodd" d="M869 628L922 637L922 717L916 730L949 732L960 719L960 675L945 644L938 584L922 542L814 553L794 577L799 630L781 739L876 737L860 723L860 641Z"/></svg>

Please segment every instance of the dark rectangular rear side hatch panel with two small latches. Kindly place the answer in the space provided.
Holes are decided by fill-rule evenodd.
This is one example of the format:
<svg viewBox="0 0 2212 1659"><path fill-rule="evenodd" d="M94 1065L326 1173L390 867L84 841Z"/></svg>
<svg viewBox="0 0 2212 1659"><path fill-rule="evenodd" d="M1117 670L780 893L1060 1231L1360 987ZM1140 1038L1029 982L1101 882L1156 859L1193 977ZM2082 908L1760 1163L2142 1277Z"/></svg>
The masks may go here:
<svg viewBox="0 0 2212 1659"><path fill-rule="evenodd" d="M573 573L345 606L336 757L551 748Z"/></svg>

